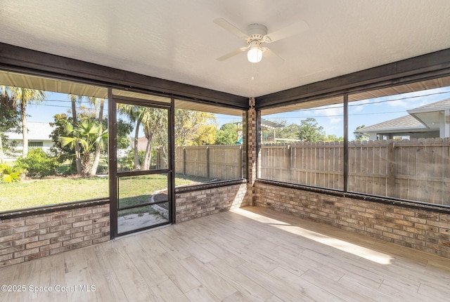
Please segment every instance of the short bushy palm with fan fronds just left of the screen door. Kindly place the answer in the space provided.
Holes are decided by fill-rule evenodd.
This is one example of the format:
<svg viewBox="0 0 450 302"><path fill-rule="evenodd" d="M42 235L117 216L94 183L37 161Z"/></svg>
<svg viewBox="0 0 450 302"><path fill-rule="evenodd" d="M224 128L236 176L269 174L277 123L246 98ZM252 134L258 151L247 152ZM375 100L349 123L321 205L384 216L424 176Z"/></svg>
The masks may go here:
<svg viewBox="0 0 450 302"><path fill-rule="evenodd" d="M65 132L68 137L60 137L63 147L70 145L75 147L79 145L80 156L82 159L82 175L91 176L91 155L95 152L96 147L103 149L108 138L108 131L100 131L101 126L97 121L85 119L74 128L69 122L65 123Z"/></svg>

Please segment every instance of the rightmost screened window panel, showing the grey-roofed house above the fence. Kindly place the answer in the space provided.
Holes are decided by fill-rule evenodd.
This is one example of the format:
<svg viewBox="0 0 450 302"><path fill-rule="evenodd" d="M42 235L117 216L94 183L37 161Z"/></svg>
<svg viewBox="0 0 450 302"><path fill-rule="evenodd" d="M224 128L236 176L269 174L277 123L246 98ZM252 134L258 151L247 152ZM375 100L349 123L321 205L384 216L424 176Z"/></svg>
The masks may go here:
<svg viewBox="0 0 450 302"><path fill-rule="evenodd" d="M450 206L448 77L349 95L349 132L349 191Z"/></svg>

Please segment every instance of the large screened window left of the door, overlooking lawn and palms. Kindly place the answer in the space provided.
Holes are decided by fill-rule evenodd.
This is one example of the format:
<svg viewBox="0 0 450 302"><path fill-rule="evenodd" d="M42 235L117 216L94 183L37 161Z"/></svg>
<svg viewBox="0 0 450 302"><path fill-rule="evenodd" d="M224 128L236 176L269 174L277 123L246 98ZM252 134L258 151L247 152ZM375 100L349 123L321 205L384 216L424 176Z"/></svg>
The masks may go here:
<svg viewBox="0 0 450 302"><path fill-rule="evenodd" d="M0 211L108 197L107 89L13 72L0 86Z"/></svg>

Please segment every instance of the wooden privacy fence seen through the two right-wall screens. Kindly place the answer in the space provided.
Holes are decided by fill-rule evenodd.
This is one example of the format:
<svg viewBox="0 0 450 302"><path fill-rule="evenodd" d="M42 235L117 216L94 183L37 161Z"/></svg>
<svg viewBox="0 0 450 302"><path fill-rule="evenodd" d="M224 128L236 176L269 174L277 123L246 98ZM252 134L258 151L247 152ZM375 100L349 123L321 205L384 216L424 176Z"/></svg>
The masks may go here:
<svg viewBox="0 0 450 302"><path fill-rule="evenodd" d="M342 190L344 145L262 145L259 177ZM450 138L352 141L348 190L450 205Z"/></svg>

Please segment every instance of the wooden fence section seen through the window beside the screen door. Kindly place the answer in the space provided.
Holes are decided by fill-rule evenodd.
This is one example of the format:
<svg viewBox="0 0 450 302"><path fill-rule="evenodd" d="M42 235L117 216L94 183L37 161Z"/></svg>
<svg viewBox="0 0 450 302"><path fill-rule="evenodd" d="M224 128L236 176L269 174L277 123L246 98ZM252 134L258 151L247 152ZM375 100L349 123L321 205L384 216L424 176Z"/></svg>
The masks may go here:
<svg viewBox="0 0 450 302"><path fill-rule="evenodd" d="M175 172L207 179L243 177L241 145L175 147Z"/></svg>

